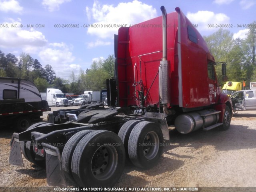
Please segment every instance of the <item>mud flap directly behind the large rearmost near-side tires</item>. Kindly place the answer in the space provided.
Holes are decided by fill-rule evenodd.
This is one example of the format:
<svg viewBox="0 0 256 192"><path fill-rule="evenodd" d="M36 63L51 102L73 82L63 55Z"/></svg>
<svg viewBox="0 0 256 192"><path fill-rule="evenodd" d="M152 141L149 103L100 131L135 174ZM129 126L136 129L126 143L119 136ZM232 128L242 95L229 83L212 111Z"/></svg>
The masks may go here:
<svg viewBox="0 0 256 192"><path fill-rule="evenodd" d="M62 169L61 154L58 148L42 143L46 152L46 176L50 186L66 186L66 179Z"/></svg>

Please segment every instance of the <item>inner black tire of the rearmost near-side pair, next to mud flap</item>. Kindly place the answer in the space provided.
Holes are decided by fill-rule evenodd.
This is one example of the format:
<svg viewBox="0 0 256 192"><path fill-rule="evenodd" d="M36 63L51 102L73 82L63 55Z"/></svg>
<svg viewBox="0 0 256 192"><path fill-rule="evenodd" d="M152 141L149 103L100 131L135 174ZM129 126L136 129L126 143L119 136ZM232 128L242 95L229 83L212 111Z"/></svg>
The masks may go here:
<svg viewBox="0 0 256 192"><path fill-rule="evenodd" d="M92 132L93 130L83 130L74 134L68 142L66 142L65 147L62 152L62 168L64 171L65 176L74 182L71 170L71 162L74 150L78 144L78 142L86 136L88 133Z"/></svg>

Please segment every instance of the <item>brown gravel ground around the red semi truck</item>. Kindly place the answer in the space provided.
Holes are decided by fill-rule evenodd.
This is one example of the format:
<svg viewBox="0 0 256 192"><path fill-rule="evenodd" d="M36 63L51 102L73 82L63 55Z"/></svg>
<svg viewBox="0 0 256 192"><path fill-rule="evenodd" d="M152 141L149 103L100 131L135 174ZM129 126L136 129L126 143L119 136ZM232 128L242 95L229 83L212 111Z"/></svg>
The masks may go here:
<svg viewBox="0 0 256 192"><path fill-rule="evenodd" d="M25 158L24 167L8 163L12 133L0 130L0 187L48 186L46 171ZM224 132L199 130L184 135L170 128L170 142L165 143L158 165L142 170L126 164L115 187L256 187L255 136L256 111L235 114Z"/></svg>

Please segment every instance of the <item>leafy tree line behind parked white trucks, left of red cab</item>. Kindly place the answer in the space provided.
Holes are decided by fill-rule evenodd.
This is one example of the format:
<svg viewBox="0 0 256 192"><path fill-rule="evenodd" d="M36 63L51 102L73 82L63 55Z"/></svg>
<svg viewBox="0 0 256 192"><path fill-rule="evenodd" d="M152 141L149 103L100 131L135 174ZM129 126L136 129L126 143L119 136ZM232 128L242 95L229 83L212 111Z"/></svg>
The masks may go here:
<svg viewBox="0 0 256 192"><path fill-rule="evenodd" d="M0 50L0 76L28 79L37 86L40 92L46 88L58 88L62 92L81 94L85 90L102 90L106 88L106 79L114 77L114 55L106 60L94 61L90 69L80 69L80 73L70 74L70 80L56 77L52 66L42 65L29 54L21 53L19 59L14 54L5 54Z"/></svg>

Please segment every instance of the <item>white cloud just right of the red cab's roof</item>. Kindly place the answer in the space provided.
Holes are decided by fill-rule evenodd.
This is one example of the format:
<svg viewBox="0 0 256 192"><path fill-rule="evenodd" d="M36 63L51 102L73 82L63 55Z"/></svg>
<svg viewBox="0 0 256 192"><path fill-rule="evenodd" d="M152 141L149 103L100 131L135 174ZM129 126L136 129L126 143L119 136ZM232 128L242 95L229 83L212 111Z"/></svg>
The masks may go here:
<svg viewBox="0 0 256 192"><path fill-rule="evenodd" d="M218 24L229 24L230 18L224 13L214 13L212 11L198 11L196 13L187 13L187 18L192 24L198 24L199 31L216 30L218 28L210 27Z"/></svg>

